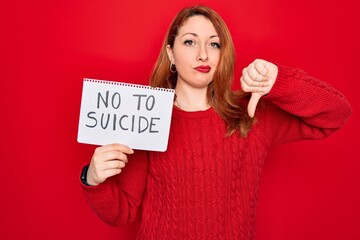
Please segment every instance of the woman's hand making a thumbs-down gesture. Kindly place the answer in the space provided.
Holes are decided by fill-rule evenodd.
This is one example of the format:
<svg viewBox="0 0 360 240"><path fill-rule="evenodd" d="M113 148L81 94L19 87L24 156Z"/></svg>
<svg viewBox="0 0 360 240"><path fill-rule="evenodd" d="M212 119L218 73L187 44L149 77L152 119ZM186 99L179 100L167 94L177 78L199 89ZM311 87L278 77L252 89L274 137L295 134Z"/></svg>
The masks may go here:
<svg viewBox="0 0 360 240"><path fill-rule="evenodd" d="M240 78L241 88L250 92L248 114L254 117L256 106L260 98L268 94L274 86L278 74L278 67L268 61L256 59L242 71Z"/></svg>

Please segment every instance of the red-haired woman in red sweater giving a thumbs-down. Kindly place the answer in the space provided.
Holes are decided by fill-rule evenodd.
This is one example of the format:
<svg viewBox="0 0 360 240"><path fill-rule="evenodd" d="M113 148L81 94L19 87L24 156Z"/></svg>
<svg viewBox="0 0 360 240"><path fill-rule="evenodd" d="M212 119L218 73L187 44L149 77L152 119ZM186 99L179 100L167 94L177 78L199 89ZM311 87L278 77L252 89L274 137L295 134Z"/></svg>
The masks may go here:
<svg viewBox="0 0 360 240"><path fill-rule="evenodd" d="M248 94L231 91L234 62L216 12L198 6L176 16L151 76L152 86L176 92L168 149L97 148L82 186L99 217L126 224L141 205L137 239L254 238L268 149L329 136L351 107L328 84L264 60L243 70Z"/></svg>

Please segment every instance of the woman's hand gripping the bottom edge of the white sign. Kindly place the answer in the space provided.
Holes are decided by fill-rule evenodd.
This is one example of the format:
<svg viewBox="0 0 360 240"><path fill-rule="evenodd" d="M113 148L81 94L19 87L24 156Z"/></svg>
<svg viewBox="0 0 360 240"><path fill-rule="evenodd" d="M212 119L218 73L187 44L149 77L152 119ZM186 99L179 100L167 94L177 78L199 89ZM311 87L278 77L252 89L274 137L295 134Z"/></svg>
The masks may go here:
<svg viewBox="0 0 360 240"><path fill-rule="evenodd" d="M116 143L96 148L87 172L87 183L95 186L121 173L128 162L127 154L133 153L128 146Z"/></svg>

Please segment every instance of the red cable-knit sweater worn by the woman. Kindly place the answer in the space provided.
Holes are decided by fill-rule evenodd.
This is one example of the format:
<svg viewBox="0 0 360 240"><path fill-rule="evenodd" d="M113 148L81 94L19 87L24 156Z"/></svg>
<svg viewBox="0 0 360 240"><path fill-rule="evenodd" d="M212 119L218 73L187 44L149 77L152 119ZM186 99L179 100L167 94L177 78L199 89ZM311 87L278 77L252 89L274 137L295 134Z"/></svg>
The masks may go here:
<svg viewBox="0 0 360 240"><path fill-rule="evenodd" d="M225 123L212 108L174 108L168 150L136 151L120 175L83 185L88 203L110 225L133 221L142 205L137 239L253 239L268 149L327 137L351 115L334 88L281 66L262 101L246 138L225 137Z"/></svg>

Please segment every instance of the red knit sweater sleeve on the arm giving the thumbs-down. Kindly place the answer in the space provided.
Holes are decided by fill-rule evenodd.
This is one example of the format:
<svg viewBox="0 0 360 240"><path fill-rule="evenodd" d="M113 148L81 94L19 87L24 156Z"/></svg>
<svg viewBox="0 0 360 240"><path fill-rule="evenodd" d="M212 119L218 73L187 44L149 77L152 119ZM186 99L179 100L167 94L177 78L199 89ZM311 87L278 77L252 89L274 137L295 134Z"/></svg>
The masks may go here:
<svg viewBox="0 0 360 240"><path fill-rule="evenodd" d="M339 91L300 69L285 66L279 66L276 82L262 102L259 127L269 145L325 138L352 114Z"/></svg>

